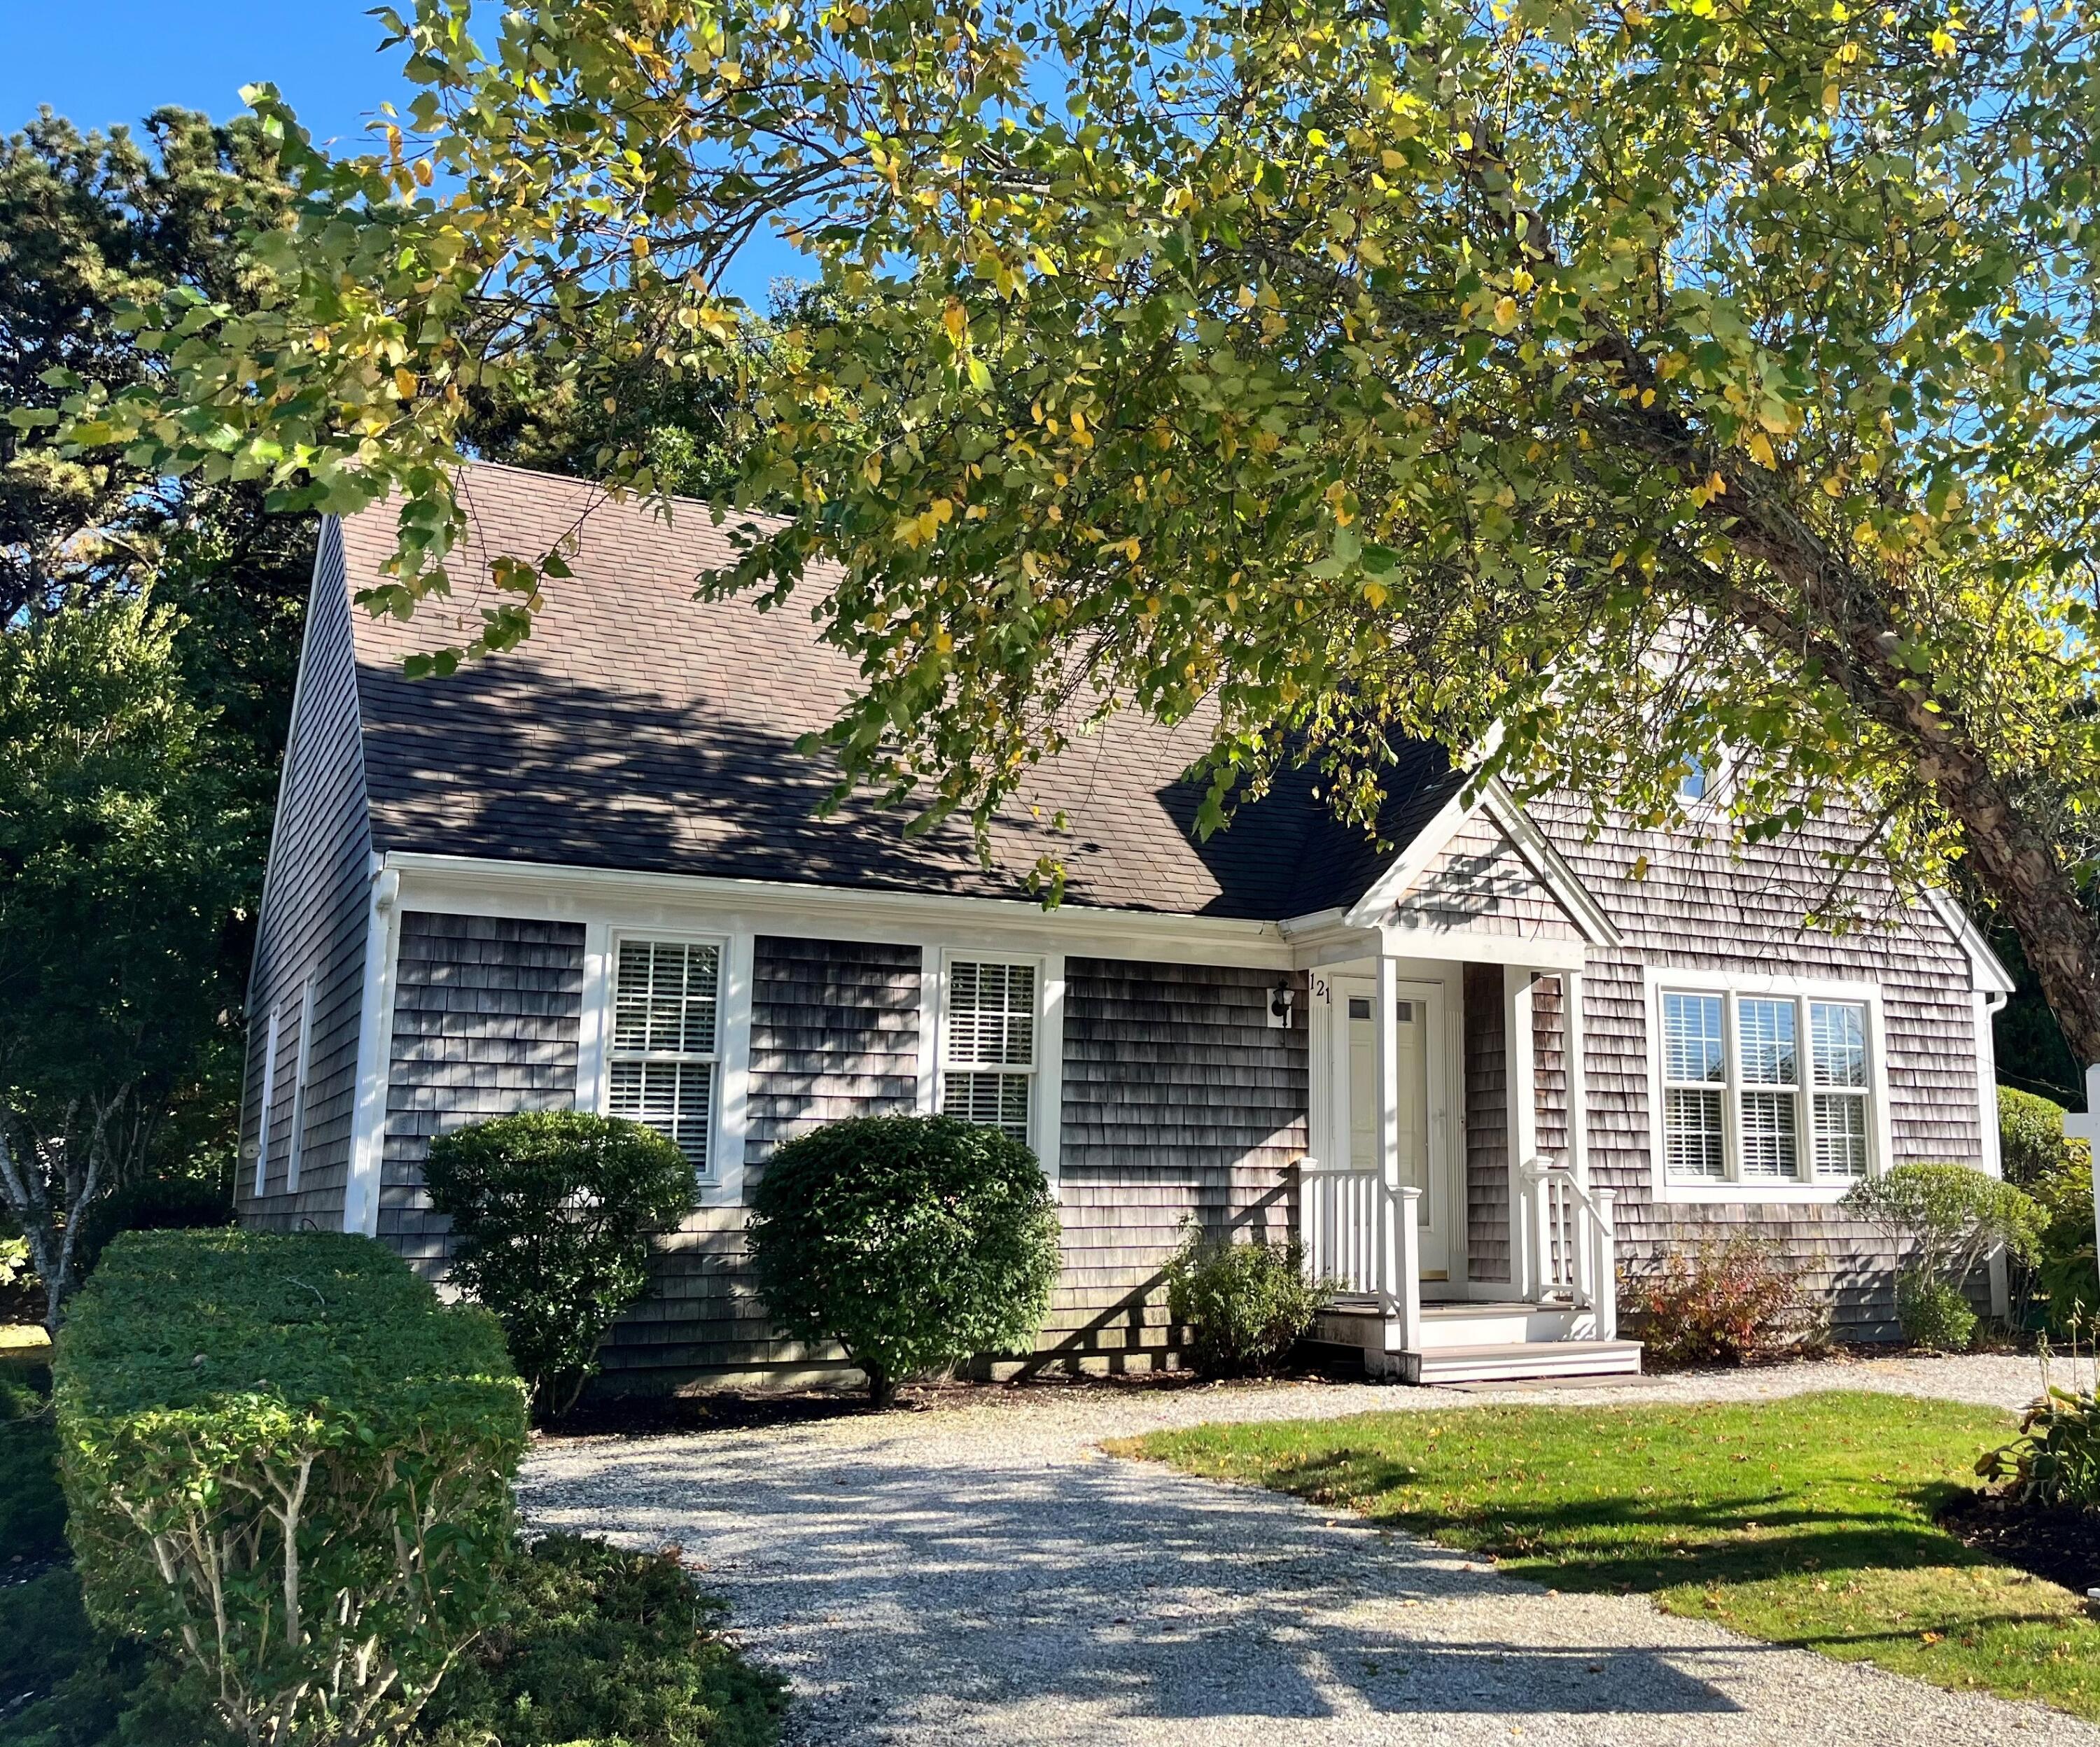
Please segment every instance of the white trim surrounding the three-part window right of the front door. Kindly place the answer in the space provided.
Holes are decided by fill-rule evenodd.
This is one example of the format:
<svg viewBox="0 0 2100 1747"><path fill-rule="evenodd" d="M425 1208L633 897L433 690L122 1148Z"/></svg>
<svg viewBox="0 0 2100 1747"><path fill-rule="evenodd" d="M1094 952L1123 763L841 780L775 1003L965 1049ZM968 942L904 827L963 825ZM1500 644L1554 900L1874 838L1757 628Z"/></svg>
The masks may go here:
<svg viewBox="0 0 2100 1747"><path fill-rule="evenodd" d="M1880 1176L1896 1163L1894 1136L1888 1102L1888 1023L1882 1014L1880 983L1848 983L1821 976L1762 976L1730 970L1678 970L1672 966L1642 966L1642 1012L1648 1029L1644 1067L1648 1077L1648 1195L1663 1203L1741 1203L1741 1205L1785 1205L1785 1203L1829 1203L1840 1201L1852 1180L1743 1180L1720 1182L1672 1182L1665 1134L1663 1134L1663 991L1686 991L1703 995L1785 995L1812 1002L1854 1002L1867 1014L1867 1176ZM1735 1002L1728 999L1722 1025L1726 1027L1728 1081L1722 1096L1722 1123L1726 1157L1732 1165L1739 1138L1737 1079L1735 1079ZM1800 1088L1802 1094L1812 1088ZM1798 1157L1804 1167L1814 1165L1814 1134L1796 1134Z"/></svg>

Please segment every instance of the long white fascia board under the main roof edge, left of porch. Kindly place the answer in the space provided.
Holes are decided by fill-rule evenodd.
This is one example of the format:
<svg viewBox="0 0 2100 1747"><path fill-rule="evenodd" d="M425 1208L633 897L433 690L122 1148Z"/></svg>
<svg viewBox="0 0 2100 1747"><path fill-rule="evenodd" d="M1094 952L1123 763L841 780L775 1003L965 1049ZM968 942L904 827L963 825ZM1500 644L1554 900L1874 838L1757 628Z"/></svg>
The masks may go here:
<svg viewBox="0 0 2100 1747"><path fill-rule="evenodd" d="M748 928L804 939L890 945L1063 951L1170 964L1243 964L1289 970L1292 945L1275 922L1176 915L1014 899L798 886L708 874L636 874L542 861L391 853L405 909L624 926Z"/></svg>

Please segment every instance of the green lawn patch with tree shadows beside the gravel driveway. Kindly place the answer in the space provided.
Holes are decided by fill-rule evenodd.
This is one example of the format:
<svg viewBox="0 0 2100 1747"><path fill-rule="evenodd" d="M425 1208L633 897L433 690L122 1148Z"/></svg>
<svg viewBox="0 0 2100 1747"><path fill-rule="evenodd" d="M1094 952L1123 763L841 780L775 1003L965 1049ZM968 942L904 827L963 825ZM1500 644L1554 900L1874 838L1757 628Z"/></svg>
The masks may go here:
<svg viewBox="0 0 2100 1747"><path fill-rule="evenodd" d="M1697 1407L1455 1407L1199 1426L1111 1445L1644 1594L1749 1638L2100 1720L2100 1623L1934 1514L2012 1417L1888 1394Z"/></svg>

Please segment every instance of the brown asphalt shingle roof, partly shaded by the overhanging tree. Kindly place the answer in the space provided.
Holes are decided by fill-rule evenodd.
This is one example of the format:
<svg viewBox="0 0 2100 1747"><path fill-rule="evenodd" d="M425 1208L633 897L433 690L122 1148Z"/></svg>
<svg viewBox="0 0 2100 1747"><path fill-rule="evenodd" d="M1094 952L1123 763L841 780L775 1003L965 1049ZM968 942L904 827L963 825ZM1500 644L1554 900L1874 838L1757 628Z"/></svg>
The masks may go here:
<svg viewBox="0 0 2100 1747"><path fill-rule="evenodd" d="M872 798L819 819L834 775L794 743L834 720L857 670L817 640L806 590L769 613L750 598L693 601L695 573L731 550L701 504L666 523L504 466L470 468L464 502L472 533L452 569L477 582L410 622L353 609L380 850L1000 899L1027 897L1050 853L1067 865L1069 903L1258 920L1346 905L1388 859L1327 815L1306 773L1197 844L1201 785L1186 769L1205 724L1163 729L1134 712L1037 766L993 825L989 869L964 825L907 840L905 815ZM494 594L489 559L538 554L571 529L575 575L548 586L525 645L449 678L401 674L405 655L472 636ZM351 517L342 538L355 594L393 552L393 510ZM1407 748L1386 840L1407 842L1455 785L1441 748ZM1071 832L1050 829L1058 808Z"/></svg>

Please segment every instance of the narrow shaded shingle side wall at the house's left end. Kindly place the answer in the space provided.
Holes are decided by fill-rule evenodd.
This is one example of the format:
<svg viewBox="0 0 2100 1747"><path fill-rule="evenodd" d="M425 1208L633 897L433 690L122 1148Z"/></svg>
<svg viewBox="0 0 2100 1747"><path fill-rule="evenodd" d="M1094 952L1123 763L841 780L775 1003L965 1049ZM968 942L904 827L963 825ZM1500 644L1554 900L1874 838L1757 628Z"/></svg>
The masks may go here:
<svg viewBox="0 0 2100 1747"><path fill-rule="evenodd" d="M269 1230L342 1226L357 1098L357 1012L365 972L365 892L372 832L357 741L357 680L342 535L323 523L300 651L298 701L284 754L269 878L248 978L248 1060L242 1094L242 1222ZM294 1077L302 991L313 978L313 1044L307 1052L304 1142L298 1191L288 1193ZM277 1071L262 1102L262 1048L271 1008ZM269 1180L256 1195L256 1134L269 1123Z"/></svg>

